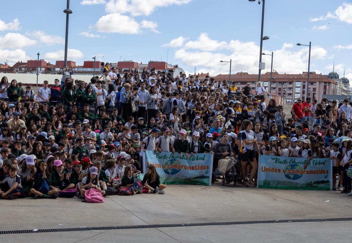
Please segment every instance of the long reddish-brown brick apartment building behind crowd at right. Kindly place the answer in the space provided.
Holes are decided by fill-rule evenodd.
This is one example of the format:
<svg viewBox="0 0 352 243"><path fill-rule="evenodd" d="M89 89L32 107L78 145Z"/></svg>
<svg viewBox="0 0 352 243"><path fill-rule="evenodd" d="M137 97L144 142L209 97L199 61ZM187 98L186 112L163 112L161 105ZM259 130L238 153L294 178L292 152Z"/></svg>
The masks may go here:
<svg viewBox="0 0 352 243"><path fill-rule="evenodd" d="M219 74L213 78L215 81L221 82L224 79L228 80L228 74ZM270 72L262 74L260 79L265 89L269 90ZM250 83L252 91L255 91L258 83L258 74L238 72L231 75L231 82L236 82L238 90L242 90L247 83ZM285 101L283 103L293 104L298 97L306 98L306 83L307 72L302 74L278 74L273 72L271 91L281 96ZM337 86L338 83L322 74L311 72L309 75L308 93L309 97L313 99L321 100L325 94L337 94Z"/></svg>

